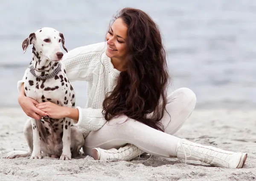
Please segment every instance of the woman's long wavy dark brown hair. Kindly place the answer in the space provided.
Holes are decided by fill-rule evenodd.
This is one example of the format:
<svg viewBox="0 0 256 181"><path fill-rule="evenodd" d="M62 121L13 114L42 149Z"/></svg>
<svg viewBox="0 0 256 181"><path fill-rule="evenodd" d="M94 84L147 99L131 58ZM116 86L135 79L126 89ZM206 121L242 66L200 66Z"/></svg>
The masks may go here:
<svg viewBox="0 0 256 181"><path fill-rule="evenodd" d="M114 90L107 93L102 113L107 121L126 115L164 131L159 121L166 110L169 73L160 30L139 9L123 8L113 20L117 18L122 18L128 27L128 65L120 73Z"/></svg>

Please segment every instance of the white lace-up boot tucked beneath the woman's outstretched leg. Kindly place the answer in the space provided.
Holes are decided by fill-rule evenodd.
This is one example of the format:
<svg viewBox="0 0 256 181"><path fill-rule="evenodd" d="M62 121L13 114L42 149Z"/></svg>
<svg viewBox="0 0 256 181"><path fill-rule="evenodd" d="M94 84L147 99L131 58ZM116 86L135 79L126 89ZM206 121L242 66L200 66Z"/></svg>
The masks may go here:
<svg viewBox="0 0 256 181"><path fill-rule="evenodd" d="M95 160L102 161L130 161L131 159L140 156L144 152L133 144L126 144L125 147L120 147L118 150L112 148L104 150L101 148L93 148L92 157Z"/></svg>

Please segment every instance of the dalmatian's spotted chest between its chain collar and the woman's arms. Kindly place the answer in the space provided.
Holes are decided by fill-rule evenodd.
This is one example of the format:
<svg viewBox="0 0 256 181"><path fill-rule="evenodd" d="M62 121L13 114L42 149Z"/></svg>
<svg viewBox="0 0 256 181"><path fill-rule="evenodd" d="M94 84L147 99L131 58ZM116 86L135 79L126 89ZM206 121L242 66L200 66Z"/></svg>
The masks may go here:
<svg viewBox="0 0 256 181"><path fill-rule="evenodd" d="M39 103L49 101L65 107L75 106L73 87L64 71L51 79L39 79L27 71L24 89L26 96Z"/></svg>

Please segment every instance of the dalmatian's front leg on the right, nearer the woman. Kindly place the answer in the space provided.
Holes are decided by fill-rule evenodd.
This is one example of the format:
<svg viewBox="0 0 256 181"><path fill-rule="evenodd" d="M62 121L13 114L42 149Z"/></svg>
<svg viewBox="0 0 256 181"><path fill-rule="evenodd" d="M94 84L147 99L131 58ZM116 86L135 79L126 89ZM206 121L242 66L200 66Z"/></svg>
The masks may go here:
<svg viewBox="0 0 256 181"><path fill-rule="evenodd" d="M70 139L70 126L71 126L71 119L64 119L63 122L63 136L62 136L62 142L63 142L63 150L61 154L61 160L71 160L71 151L70 151L70 145L71 145L71 139Z"/></svg>

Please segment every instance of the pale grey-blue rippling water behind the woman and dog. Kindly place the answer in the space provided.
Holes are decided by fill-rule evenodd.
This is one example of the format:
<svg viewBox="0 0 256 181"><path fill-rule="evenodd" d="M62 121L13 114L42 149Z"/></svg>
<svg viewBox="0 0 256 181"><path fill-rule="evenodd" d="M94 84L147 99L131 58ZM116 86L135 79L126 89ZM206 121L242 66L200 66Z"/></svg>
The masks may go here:
<svg viewBox="0 0 256 181"><path fill-rule="evenodd" d="M61 31L68 50L104 41L123 7L148 12L160 26L173 76L170 90L188 87L197 108L256 107L256 1L253 0L23 0L0 2L1 107L18 106L17 81L31 59L21 43L42 27ZM77 105L86 82L74 82Z"/></svg>

